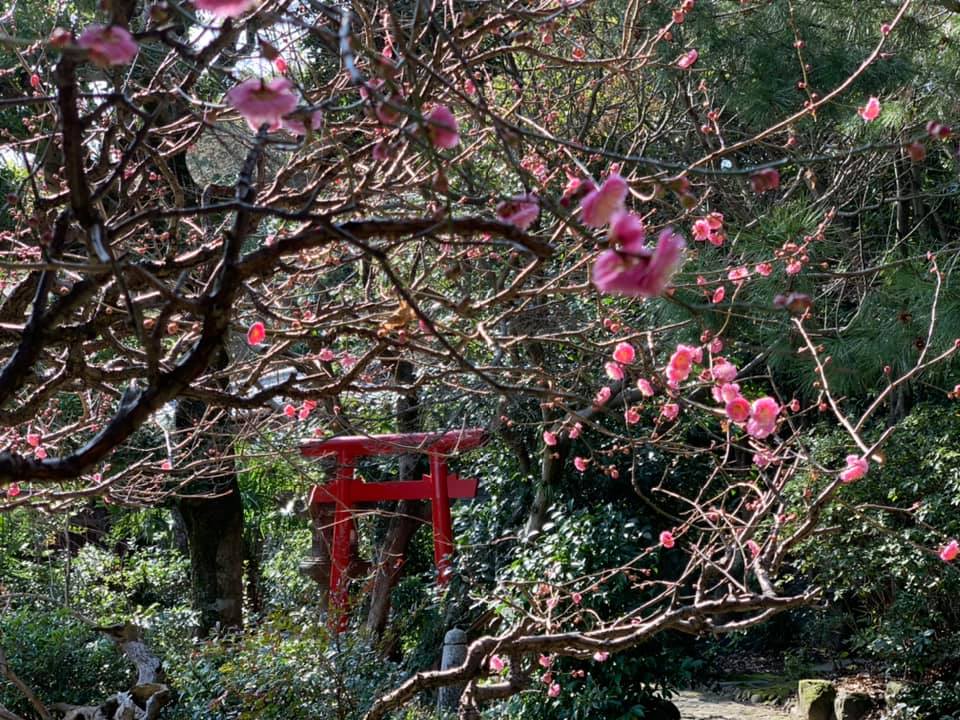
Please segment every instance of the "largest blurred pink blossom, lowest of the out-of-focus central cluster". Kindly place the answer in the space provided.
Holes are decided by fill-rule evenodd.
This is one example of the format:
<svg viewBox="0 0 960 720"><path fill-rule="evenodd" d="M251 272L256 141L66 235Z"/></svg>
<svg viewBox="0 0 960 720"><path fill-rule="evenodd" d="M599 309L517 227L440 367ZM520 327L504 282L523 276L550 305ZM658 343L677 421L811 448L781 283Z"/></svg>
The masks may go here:
<svg viewBox="0 0 960 720"><path fill-rule="evenodd" d="M593 266L593 284L607 294L661 295L680 266L685 246L683 238L670 228L660 232L655 249L646 247L642 236L634 236L619 249L600 253Z"/></svg>

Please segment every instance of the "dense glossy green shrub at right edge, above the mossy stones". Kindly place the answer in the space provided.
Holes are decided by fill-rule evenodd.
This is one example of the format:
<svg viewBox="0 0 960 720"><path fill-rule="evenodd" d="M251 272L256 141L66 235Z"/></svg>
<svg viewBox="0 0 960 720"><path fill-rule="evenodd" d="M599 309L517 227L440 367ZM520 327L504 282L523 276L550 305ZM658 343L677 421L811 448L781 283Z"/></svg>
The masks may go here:
<svg viewBox="0 0 960 720"><path fill-rule="evenodd" d="M955 669L960 658L960 572L936 552L960 536L958 441L953 407L915 408L886 447L886 462L840 489L826 523L834 532L803 548L800 570L844 614L852 651L895 672ZM839 467L848 446L842 433L830 431L812 449Z"/></svg>

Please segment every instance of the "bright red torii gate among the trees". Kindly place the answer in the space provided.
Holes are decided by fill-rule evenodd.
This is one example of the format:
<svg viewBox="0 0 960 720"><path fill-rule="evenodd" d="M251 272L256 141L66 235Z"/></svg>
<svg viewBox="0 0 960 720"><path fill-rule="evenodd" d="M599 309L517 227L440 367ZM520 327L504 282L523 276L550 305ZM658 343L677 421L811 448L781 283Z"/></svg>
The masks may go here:
<svg viewBox="0 0 960 720"><path fill-rule="evenodd" d="M452 498L472 498L477 494L476 479L461 478L447 469L447 457L482 445L487 433L481 428L451 430L441 433L406 433L397 435L357 435L313 440L300 446L300 454L308 458L337 456L337 472L333 482L314 485L310 506L333 503L333 542L330 548L330 607L339 612L338 630L346 626L346 571L350 564L350 531L357 503L382 500L430 500L433 515L433 557L437 565L437 583L449 580L453 553L453 527L450 520ZM420 480L394 480L368 483L354 476L356 460L380 455L425 453L430 459L430 473ZM331 616L332 617L332 616Z"/></svg>

